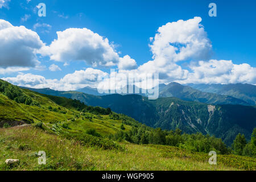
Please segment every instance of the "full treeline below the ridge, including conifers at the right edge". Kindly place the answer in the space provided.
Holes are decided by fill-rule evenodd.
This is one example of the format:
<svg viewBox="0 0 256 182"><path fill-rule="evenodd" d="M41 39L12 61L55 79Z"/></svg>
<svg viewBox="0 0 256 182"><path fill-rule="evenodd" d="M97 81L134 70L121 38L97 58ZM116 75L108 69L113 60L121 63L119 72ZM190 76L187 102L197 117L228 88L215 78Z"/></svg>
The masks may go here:
<svg viewBox="0 0 256 182"><path fill-rule="evenodd" d="M127 123L127 122L123 122ZM131 123L134 125L134 123ZM136 124L135 124L136 125ZM126 140L130 143L136 144L162 144L168 146L175 146L184 148L195 152L216 151L217 154L236 154L243 156L256 156L256 129L253 130L251 141L246 142L245 136L238 134L234 140L232 147L227 147L220 138L211 137L210 135L203 135L201 133L186 134L180 129L162 130L151 129L146 125L139 127L133 126L131 130L124 132L118 131L114 135L110 135L114 140Z"/></svg>

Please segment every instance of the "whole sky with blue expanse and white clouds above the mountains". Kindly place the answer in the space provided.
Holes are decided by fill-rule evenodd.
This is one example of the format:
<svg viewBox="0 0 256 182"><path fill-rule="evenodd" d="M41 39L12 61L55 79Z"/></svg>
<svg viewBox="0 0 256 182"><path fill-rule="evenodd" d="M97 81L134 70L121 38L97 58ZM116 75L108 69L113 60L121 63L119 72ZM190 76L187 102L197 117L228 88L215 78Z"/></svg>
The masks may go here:
<svg viewBox="0 0 256 182"><path fill-rule="evenodd" d="M255 85L255 9L253 0L0 0L0 78L76 90L114 68L118 82L159 73L160 83Z"/></svg>

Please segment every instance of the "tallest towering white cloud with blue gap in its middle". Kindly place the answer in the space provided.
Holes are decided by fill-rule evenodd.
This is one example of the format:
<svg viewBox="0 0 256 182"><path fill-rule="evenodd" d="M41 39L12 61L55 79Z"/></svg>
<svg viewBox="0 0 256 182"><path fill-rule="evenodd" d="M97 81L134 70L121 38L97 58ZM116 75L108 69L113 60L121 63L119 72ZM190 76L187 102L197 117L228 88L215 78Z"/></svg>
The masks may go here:
<svg viewBox="0 0 256 182"><path fill-rule="evenodd" d="M150 45L154 59L182 61L207 59L212 45L200 17L178 20L159 27Z"/></svg>

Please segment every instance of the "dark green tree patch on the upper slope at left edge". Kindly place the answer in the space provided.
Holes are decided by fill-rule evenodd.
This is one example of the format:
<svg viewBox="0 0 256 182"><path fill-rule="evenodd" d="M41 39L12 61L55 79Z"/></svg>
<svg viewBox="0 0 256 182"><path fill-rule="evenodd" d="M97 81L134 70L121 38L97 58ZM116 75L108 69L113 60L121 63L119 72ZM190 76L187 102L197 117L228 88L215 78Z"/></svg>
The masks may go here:
<svg viewBox="0 0 256 182"><path fill-rule="evenodd" d="M39 106L38 102L33 101L30 96L24 94L18 86L11 85L3 80L0 80L0 93L19 104Z"/></svg>

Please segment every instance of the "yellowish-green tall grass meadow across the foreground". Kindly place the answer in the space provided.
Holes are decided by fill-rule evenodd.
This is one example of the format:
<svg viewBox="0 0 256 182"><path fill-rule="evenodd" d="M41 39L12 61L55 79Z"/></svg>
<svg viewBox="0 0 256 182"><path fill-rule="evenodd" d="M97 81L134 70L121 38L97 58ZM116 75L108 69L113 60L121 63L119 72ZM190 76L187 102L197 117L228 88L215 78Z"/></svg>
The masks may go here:
<svg viewBox="0 0 256 182"><path fill-rule="evenodd" d="M194 152L204 158L198 160L185 158L191 152L183 150L181 154L175 147L122 144L125 151L104 150L35 127L0 129L0 170L214 170L205 154ZM46 165L38 164L38 151L46 152ZM20 163L7 166L6 159L19 159ZM227 162L229 165L223 163L215 169L243 169L232 161ZM251 162L255 170L255 160Z"/></svg>

